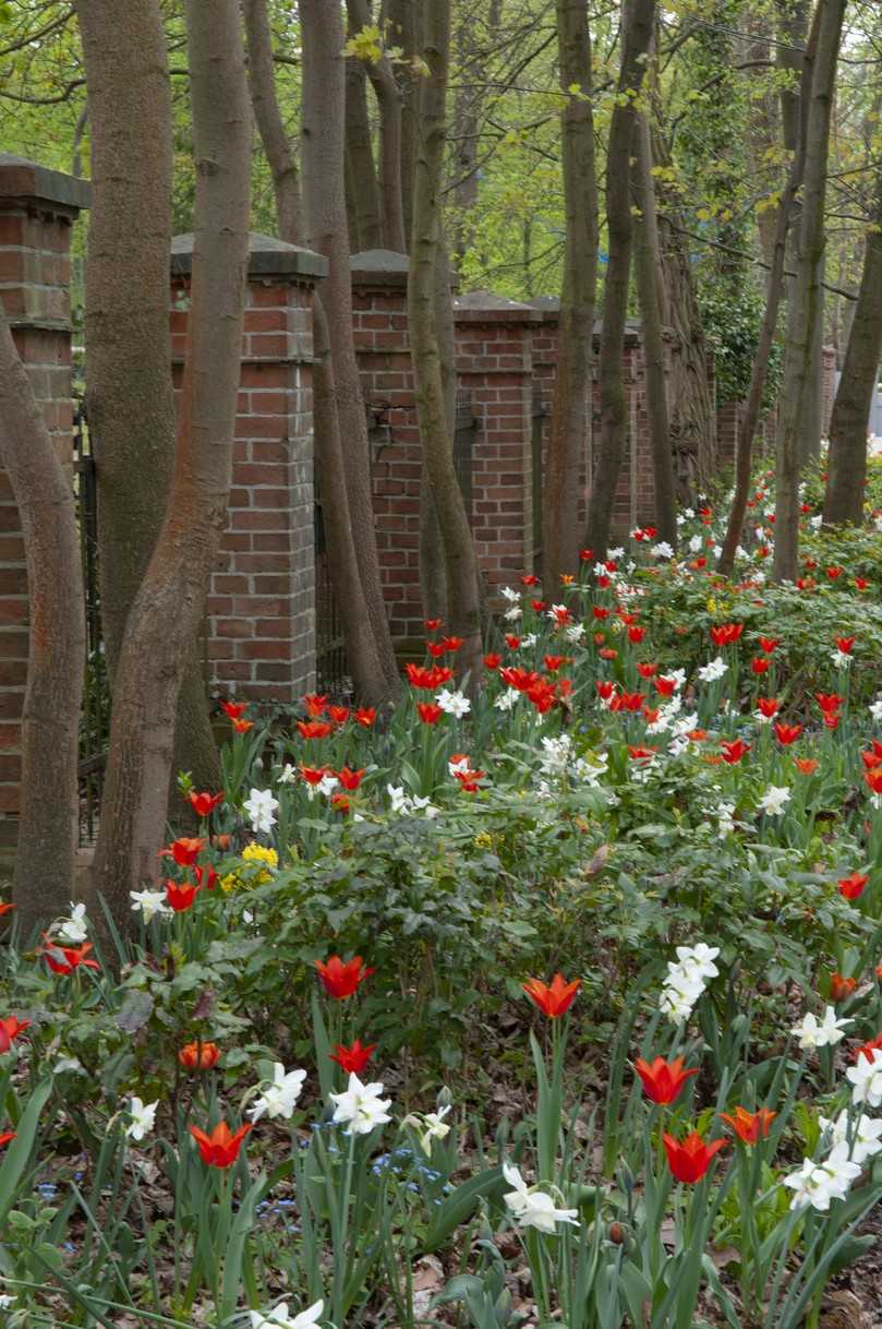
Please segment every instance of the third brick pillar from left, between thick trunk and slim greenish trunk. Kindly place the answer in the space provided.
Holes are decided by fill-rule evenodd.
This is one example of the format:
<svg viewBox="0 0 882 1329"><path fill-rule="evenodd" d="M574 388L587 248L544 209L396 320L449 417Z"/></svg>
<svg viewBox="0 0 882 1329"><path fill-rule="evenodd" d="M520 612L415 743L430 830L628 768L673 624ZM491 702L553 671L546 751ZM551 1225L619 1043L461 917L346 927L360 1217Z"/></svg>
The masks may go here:
<svg viewBox="0 0 882 1329"><path fill-rule="evenodd" d="M422 456L408 334L408 256L367 250L353 254L349 266L383 595L393 641L406 651L425 638L420 598Z"/></svg>

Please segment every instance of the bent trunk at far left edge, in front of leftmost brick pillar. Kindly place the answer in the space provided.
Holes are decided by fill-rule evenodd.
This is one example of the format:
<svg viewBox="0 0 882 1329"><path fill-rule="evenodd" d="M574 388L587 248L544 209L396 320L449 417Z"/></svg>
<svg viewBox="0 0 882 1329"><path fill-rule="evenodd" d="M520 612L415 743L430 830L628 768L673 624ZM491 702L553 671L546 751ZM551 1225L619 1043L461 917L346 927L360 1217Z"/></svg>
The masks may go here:
<svg viewBox="0 0 882 1329"><path fill-rule="evenodd" d="M0 302L0 459L19 509L31 610L12 896L25 944L68 906L77 848L85 595L70 480Z"/></svg>

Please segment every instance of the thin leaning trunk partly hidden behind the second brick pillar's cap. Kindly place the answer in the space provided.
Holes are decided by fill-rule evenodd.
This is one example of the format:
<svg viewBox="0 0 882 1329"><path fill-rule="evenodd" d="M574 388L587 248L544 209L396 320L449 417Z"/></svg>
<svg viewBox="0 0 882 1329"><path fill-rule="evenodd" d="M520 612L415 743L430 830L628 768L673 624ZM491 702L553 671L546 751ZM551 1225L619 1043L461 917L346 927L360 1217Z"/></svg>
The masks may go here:
<svg viewBox="0 0 882 1329"><path fill-rule="evenodd" d="M248 44L255 36L263 41L262 33L270 40L267 0L246 0L244 15ZM270 52L268 60L255 60L248 45L248 73L255 118L272 175L279 234L288 245L303 245L306 231L302 226L306 227L306 222L302 222L299 181L292 169L294 153L279 108L272 53ZM343 609L347 658L356 694L365 702L383 700L388 690L361 586L355 530L349 517L331 335L320 292L315 296L312 334L316 480L323 505L333 517L325 525L328 563Z"/></svg>

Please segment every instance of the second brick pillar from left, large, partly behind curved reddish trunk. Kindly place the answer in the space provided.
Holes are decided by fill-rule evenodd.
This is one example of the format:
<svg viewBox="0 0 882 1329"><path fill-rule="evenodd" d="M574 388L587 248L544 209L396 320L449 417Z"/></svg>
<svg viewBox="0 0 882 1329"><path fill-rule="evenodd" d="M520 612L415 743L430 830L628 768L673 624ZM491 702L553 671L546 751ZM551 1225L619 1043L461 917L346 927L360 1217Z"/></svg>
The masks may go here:
<svg viewBox="0 0 882 1329"><path fill-rule="evenodd" d="M193 235L171 242L171 354L183 373ZM209 595L213 688L292 702L315 682L311 250L251 235L227 529Z"/></svg>

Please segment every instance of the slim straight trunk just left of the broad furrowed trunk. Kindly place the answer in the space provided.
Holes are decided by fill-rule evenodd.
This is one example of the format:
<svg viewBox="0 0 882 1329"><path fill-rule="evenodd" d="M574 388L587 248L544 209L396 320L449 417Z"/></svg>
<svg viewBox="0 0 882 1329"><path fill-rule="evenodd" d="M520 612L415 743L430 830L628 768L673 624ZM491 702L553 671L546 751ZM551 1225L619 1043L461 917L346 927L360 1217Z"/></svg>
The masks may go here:
<svg viewBox="0 0 882 1329"><path fill-rule="evenodd" d="M652 481L655 490L655 524L662 540L672 549L677 544L676 496L673 492L673 455L668 427L668 388L664 368L664 338L659 300L660 274L659 227L652 183L652 142L646 114L635 129L635 198L640 213L634 246L640 316L643 320L643 363L646 367L646 409L652 447Z"/></svg>

